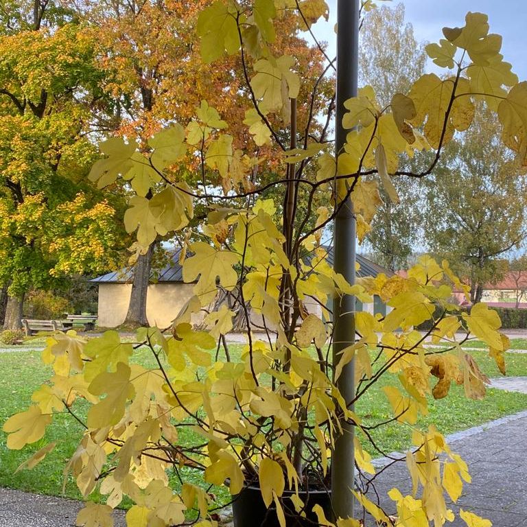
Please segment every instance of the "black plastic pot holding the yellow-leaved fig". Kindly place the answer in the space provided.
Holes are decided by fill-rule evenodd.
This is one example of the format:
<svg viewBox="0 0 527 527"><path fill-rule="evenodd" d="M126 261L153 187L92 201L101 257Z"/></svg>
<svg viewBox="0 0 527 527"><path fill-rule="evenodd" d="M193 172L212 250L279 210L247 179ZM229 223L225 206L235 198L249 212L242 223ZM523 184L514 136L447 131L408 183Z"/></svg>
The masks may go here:
<svg viewBox="0 0 527 527"><path fill-rule="evenodd" d="M285 491L281 497L287 527L316 527L318 520L312 512L316 504L323 508L327 519L333 517L331 493L328 491L298 492L298 496L305 504L306 517L301 517L296 513L290 499L293 494L293 492ZM274 502L267 508L258 487L245 487L237 495L233 502L233 519L234 527L280 527Z"/></svg>

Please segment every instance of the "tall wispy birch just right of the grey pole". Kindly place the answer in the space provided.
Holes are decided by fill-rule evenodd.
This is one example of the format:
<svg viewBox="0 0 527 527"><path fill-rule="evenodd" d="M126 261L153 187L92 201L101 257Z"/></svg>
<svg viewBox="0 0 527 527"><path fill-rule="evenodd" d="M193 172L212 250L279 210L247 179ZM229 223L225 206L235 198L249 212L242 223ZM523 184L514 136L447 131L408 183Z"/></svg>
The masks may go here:
<svg viewBox="0 0 527 527"><path fill-rule="evenodd" d="M410 23L404 5L382 5L366 14L360 32L360 82L373 86L380 104L390 104L393 93L406 93L425 69L427 55ZM408 169L419 172L419 160L404 159ZM406 268L408 257L421 237L419 203L422 185L417 179L393 178L396 195L381 189L382 203L366 234L371 257L390 269Z"/></svg>

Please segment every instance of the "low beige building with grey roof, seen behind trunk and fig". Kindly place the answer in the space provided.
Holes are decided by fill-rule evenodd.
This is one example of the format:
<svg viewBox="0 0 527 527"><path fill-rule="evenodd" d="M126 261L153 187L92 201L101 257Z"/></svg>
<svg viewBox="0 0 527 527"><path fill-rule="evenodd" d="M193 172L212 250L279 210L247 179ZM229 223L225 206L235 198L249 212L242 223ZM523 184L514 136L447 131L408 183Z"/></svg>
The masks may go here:
<svg viewBox="0 0 527 527"><path fill-rule="evenodd" d="M178 263L179 254L174 255L172 262L159 272L152 272L150 285L148 285L146 316L150 325L158 327L169 327L170 323L180 309L192 296L194 284L183 282L183 269ZM333 265L333 252L329 251L327 261ZM360 255L357 256L360 270L358 277L376 277L377 274L384 273L388 277L393 273L377 266ZM130 270L120 270L104 274L91 280L99 286L98 299L98 318L97 324L100 327L117 327L124 323L130 294L132 292L132 273ZM313 303L307 309L312 312L320 312L320 307ZM374 302L364 304L358 302L358 310L368 311L372 314L386 315L386 305L378 296Z"/></svg>

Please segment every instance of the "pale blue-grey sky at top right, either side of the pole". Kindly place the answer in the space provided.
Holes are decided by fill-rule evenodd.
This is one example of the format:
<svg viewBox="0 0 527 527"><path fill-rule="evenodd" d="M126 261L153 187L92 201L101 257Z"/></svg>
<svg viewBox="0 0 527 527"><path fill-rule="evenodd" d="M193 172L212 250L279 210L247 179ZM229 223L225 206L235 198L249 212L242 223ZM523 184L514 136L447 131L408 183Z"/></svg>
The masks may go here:
<svg viewBox="0 0 527 527"><path fill-rule="evenodd" d="M318 27L317 32L334 47L333 26L336 20L336 0L327 0L331 24ZM390 5L391 2L386 2ZM393 4L399 3L397 0ZM513 65L519 80L527 80L527 1L526 0L404 0L406 21L412 23L417 40L438 42L441 29L465 25L469 11L489 15L491 33L503 36L502 54Z"/></svg>

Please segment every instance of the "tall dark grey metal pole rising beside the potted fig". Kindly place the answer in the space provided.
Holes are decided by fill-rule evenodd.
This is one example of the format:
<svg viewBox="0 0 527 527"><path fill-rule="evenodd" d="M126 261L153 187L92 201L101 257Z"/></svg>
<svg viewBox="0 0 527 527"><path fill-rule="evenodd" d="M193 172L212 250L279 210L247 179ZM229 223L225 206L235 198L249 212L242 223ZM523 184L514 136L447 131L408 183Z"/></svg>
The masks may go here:
<svg viewBox="0 0 527 527"><path fill-rule="evenodd" d="M344 101L357 95L359 0L338 0L337 3L337 99L336 99L336 153L346 142L347 131L342 128L346 109ZM347 200L335 220L334 268L349 283L355 283L355 218L353 205ZM333 303L333 364L340 359L339 352L355 342L355 297L336 298ZM338 379L338 388L345 401L355 396L353 362L344 367ZM336 517L353 517L355 452L353 426L342 425L343 433L336 438L331 456L331 500Z"/></svg>

